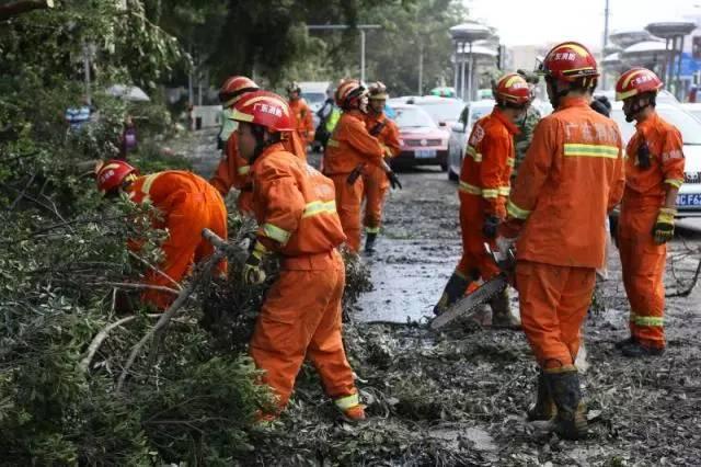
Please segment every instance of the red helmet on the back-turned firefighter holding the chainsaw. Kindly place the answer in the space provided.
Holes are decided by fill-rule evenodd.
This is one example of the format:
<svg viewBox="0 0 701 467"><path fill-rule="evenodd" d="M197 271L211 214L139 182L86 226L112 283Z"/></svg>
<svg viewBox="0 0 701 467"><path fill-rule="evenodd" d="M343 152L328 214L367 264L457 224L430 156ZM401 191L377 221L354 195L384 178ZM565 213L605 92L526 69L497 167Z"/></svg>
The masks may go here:
<svg viewBox="0 0 701 467"><path fill-rule="evenodd" d="M595 83L599 77L596 59L584 45L565 42L554 46L540 66L540 72L558 81L574 82L583 80L585 87Z"/></svg>

